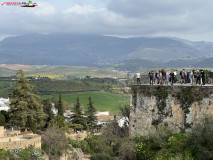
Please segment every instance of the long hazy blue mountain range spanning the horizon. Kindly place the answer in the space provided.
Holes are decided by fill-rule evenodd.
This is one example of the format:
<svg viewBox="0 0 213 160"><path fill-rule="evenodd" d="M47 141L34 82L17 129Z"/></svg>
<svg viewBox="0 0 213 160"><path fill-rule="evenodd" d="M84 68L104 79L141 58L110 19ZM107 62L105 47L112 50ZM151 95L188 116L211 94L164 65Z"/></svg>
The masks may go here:
<svg viewBox="0 0 213 160"><path fill-rule="evenodd" d="M183 57L213 57L213 43L75 34L31 34L0 41L0 64L102 66L131 59L165 63Z"/></svg>

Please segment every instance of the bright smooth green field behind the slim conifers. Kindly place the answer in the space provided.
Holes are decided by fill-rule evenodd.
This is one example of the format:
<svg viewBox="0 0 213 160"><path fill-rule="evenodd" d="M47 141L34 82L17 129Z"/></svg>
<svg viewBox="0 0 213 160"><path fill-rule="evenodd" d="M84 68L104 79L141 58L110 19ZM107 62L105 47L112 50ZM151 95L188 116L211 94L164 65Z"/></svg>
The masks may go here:
<svg viewBox="0 0 213 160"><path fill-rule="evenodd" d="M130 98L121 95L115 95L112 93L101 92L84 92L75 94L62 94L62 99L69 104L76 103L76 97L79 96L80 103L84 108L87 107L88 98L91 97L95 108L98 111L110 111L110 113L118 113L119 105L129 105ZM58 98L59 95L44 95L41 96L42 99L45 98Z"/></svg>

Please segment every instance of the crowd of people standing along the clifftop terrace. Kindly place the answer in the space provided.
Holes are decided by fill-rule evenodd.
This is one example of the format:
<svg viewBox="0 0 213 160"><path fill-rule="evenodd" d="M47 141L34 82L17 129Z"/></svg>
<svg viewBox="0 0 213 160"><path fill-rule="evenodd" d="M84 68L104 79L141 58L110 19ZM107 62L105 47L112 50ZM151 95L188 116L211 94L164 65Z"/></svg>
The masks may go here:
<svg viewBox="0 0 213 160"><path fill-rule="evenodd" d="M157 72L150 71L149 74L149 82L150 85L153 84L161 84L161 85L173 85L174 83L181 84L194 84L194 85L205 85L206 82L206 74L204 70L185 70L181 71L165 71L164 69L159 70ZM213 72L209 72L207 77L210 79L213 78ZM136 74L137 84L141 84L141 76L140 73Z"/></svg>

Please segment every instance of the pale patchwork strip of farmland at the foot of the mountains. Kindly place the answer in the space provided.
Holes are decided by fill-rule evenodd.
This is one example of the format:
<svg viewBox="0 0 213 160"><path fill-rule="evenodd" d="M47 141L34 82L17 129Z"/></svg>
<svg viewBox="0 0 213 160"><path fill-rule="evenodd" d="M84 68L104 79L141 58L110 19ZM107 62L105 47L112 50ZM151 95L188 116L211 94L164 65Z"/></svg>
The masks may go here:
<svg viewBox="0 0 213 160"><path fill-rule="evenodd" d="M20 65L11 64L3 65L0 64L0 76L11 76L15 75L19 69L22 69L26 76L35 77L49 77L52 79L67 79L78 77L82 78L85 76L90 77L101 77L101 78L113 78L113 77L125 77L126 72L116 71L112 68L97 68L97 67L86 67L86 66L47 66L47 65Z"/></svg>

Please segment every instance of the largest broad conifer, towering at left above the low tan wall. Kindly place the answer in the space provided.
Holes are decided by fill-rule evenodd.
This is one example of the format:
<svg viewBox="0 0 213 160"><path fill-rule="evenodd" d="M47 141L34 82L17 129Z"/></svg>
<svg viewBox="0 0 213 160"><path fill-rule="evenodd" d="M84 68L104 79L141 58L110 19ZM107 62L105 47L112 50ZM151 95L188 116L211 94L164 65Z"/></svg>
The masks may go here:
<svg viewBox="0 0 213 160"><path fill-rule="evenodd" d="M17 73L18 81L10 95L10 124L22 129L30 128L33 132L43 127L46 114L40 97L33 93L34 86L25 78L22 70Z"/></svg>

